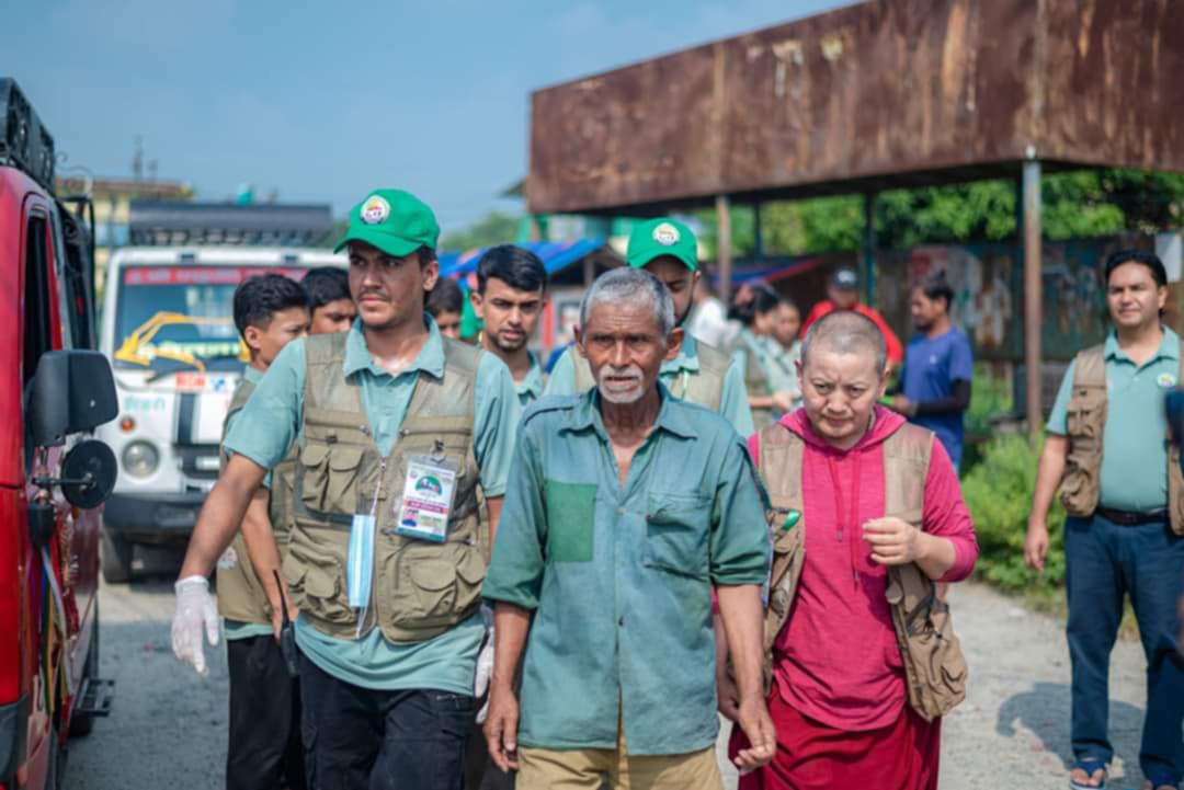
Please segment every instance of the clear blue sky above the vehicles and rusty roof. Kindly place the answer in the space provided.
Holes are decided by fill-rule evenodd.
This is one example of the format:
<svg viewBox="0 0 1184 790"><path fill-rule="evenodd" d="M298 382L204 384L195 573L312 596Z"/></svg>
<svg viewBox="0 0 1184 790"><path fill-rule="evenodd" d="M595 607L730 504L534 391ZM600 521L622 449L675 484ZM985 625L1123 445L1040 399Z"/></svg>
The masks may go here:
<svg viewBox="0 0 1184 790"><path fill-rule="evenodd" d="M845 5L603 2L6 2L15 77L69 164L160 177L220 200L237 184L336 214L411 189L444 232L526 174L532 90Z"/></svg>

